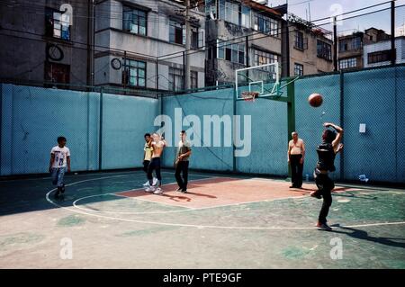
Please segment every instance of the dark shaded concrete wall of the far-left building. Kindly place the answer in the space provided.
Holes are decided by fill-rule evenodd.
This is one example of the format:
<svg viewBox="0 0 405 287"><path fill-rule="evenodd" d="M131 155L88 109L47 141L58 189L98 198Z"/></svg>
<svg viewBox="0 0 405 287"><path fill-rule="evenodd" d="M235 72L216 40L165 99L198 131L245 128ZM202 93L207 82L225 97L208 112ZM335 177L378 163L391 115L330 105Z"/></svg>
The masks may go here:
<svg viewBox="0 0 405 287"><path fill-rule="evenodd" d="M70 41L50 38L45 35L45 7L58 9L60 4L73 7L73 25ZM56 44L64 53L60 61L49 60L70 66L70 83L85 85L87 81L87 5L76 1L35 1L33 12L27 1L7 0L0 6L0 77L14 80L44 81L44 63L47 60L46 44ZM43 9L43 10L42 10ZM14 31L9 31L11 29ZM21 32L20 32L21 31Z"/></svg>

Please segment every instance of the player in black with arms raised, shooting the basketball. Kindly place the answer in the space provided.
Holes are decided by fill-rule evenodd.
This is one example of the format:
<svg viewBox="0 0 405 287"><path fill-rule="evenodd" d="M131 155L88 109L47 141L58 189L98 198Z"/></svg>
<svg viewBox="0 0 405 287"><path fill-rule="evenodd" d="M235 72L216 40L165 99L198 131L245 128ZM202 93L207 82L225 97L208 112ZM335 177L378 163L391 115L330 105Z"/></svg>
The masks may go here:
<svg viewBox="0 0 405 287"><path fill-rule="evenodd" d="M326 130L322 133L322 143L317 148L319 161L315 167L314 177L318 190L312 192L311 196L321 199L323 197L322 208L320 209L320 216L318 218L317 227L322 230L331 230L327 224L327 216L329 214L329 208L332 204L332 190L335 188L335 184L329 177L329 172L334 172L335 157L343 149L343 144L340 143L343 137L343 129L338 125L325 122L324 127ZM332 127L334 130L329 130Z"/></svg>

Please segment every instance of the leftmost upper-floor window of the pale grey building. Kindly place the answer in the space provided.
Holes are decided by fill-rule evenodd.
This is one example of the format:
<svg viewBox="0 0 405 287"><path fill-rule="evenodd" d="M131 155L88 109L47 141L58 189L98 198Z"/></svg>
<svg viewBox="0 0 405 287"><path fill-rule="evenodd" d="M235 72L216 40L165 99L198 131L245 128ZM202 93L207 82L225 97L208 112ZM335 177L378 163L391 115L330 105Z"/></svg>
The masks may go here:
<svg viewBox="0 0 405 287"><path fill-rule="evenodd" d="M134 34L146 36L147 13L138 9L123 6L122 28Z"/></svg>

